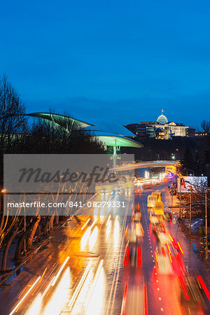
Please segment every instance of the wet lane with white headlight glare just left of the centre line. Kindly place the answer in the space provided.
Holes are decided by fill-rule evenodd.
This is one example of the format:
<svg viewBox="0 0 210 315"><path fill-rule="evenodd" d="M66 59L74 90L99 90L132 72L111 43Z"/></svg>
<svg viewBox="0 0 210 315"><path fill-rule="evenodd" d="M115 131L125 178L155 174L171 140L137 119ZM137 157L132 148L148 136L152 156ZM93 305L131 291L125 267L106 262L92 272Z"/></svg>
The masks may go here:
<svg viewBox="0 0 210 315"><path fill-rule="evenodd" d="M129 207L127 207L128 209ZM121 263L123 260L124 232L127 216L106 216L99 230L99 259L103 260L102 273L104 276L102 285L92 293L92 302L87 307L85 299L80 299L83 304L76 314L118 314L120 312L121 302L123 298L123 286L119 281L121 277ZM99 280L97 282L100 282ZM102 280L101 280L102 282ZM101 302L97 301L97 295L102 294ZM83 302L82 302L83 300ZM73 313L74 314L74 313Z"/></svg>

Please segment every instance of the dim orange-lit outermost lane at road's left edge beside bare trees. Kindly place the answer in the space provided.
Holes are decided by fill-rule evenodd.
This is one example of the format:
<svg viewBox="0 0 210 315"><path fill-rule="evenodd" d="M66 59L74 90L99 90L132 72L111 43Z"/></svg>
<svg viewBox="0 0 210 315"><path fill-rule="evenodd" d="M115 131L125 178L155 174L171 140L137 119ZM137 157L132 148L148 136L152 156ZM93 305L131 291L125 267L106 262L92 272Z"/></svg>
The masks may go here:
<svg viewBox="0 0 210 315"><path fill-rule="evenodd" d="M25 295L27 288L38 279L38 276L43 276L42 281L45 282L52 271L56 271L64 262L65 258L59 253L66 250L66 244L70 244L69 233L66 230L76 228L77 221L70 221L66 228L57 231L56 237L52 237L44 250L39 251L34 258L32 258L23 267L22 272L15 279L10 281L10 286L1 288L0 295L0 314L9 314L8 309L12 310L13 306L19 302L20 297ZM6 301L9 301L7 303Z"/></svg>

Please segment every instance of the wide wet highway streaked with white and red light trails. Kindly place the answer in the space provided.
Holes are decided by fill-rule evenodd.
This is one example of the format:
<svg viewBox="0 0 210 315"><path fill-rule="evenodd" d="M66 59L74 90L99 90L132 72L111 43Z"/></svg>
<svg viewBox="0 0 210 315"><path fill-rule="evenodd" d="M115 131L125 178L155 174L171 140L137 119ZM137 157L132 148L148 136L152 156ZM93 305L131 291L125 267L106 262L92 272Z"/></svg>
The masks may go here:
<svg viewBox="0 0 210 315"><path fill-rule="evenodd" d="M124 207L96 207L66 224L11 286L0 289L0 314L209 314L204 263L175 220L164 222L172 238L168 252L149 221L148 195L162 191L167 206L167 186L98 195L97 201ZM132 244L125 237L137 204L144 236ZM175 250L177 241L181 249ZM172 262L166 267L168 253ZM202 298L190 295L187 279L200 279Z"/></svg>

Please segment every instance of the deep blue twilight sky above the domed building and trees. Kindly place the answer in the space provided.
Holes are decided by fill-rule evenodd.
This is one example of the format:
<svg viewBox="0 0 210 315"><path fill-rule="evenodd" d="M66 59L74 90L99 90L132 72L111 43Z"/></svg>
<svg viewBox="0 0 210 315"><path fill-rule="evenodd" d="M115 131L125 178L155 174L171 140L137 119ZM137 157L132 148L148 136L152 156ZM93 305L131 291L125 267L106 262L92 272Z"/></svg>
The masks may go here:
<svg viewBox="0 0 210 315"><path fill-rule="evenodd" d="M208 0L8 0L0 26L0 73L29 112L210 120Z"/></svg>

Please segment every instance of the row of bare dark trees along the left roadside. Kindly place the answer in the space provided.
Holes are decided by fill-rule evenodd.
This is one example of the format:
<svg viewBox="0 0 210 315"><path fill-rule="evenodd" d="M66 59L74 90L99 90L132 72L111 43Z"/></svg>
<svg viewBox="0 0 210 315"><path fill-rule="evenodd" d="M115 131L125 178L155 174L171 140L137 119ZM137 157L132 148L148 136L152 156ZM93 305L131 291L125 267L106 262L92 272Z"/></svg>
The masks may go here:
<svg viewBox="0 0 210 315"><path fill-rule="evenodd" d="M97 154L104 153L102 144L94 140L90 132L78 130L72 120L62 120L62 125L53 124L47 120L36 119L32 123L27 118L27 108L22 102L18 91L10 83L6 75L0 78L0 249L3 250L1 271L6 272L8 249L16 240L14 259L23 257L24 248L31 251L34 240L40 241L48 235L55 226L66 220L68 216L58 216L56 210L49 216L9 216L3 215L3 154ZM87 192L83 183L75 183L69 187L69 200L84 202ZM55 200L57 196L55 195Z"/></svg>

